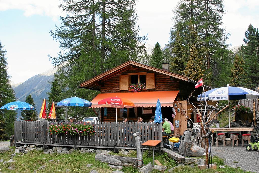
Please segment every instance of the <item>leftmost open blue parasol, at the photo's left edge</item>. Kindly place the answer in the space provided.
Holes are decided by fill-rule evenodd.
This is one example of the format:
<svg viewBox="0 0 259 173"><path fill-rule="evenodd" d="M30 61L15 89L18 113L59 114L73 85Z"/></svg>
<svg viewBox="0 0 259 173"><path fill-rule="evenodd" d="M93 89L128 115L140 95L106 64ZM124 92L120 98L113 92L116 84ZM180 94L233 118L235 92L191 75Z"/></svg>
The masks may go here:
<svg viewBox="0 0 259 173"><path fill-rule="evenodd" d="M5 104L0 109L7 109L7 110L17 110L18 109L17 120L19 121L19 110L34 110L35 108L32 105L30 105L29 103L26 103L23 101L13 101L13 102Z"/></svg>

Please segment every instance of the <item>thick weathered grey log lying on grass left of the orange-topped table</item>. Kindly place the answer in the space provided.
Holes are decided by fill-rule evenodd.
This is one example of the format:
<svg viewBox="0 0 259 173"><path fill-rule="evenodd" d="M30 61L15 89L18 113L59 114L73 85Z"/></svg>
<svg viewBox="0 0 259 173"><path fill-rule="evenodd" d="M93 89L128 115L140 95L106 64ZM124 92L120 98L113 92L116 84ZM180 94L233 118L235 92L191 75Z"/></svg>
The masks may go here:
<svg viewBox="0 0 259 173"><path fill-rule="evenodd" d="M110 154L96 154L95 160L100 162L109 163L115 166L133 166L137 161L135 157L115 156Z"/></svg>

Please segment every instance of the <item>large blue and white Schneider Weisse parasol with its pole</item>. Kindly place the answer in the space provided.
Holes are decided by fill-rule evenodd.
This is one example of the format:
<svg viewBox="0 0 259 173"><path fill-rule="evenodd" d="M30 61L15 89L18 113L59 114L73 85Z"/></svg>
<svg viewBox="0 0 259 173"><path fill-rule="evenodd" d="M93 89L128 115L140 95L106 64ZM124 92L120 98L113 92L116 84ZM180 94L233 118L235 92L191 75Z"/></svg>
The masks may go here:
<svg viewBox="0 0 259 173"><path fill-rule="evenodd" d="M231 87L227 85L226 87L215 88L198 95L198 101L206 100L228 100L228 117L229 117L229 127L230 127L230 109L229 100L242 100L242 99L258 99L259 93L251 89L243 87Z"/></svg>

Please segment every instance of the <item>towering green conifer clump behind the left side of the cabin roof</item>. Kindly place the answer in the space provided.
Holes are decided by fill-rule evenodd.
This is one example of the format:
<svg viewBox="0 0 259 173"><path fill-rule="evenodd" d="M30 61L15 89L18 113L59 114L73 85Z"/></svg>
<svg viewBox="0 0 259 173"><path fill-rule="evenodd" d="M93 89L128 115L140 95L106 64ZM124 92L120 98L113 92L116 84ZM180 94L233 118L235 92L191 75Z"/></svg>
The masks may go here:
<svg viewBox="0 0 259 173"><path fill-rule="evenodd" d="M80 83L127 60L139 61L139 53L145 50L145 44L139 43L147 37L139 36L139 27L135 27L135 1L65 0L60 7L71 14L61 17L61 26L50 31L66 50L50 57L58 67L61 99L92 100L98 92L78 88ZM81 117L95 116L92 109L77 107L76 112Z"/></svg>

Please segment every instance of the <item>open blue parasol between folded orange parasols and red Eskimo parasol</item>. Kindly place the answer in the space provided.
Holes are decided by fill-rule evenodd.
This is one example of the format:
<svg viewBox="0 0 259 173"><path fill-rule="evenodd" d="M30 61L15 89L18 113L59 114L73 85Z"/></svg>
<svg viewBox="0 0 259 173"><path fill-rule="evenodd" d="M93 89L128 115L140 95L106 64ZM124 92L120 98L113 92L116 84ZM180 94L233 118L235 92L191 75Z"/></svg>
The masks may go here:
<svg viewBox="0 0 259 173"><path fill-rule="evenodd" d="M70 97L57 102L57 106L75 106L75 119L76 119L76 106L90 107L92 103L88 100L79 97Z"/></svg>

